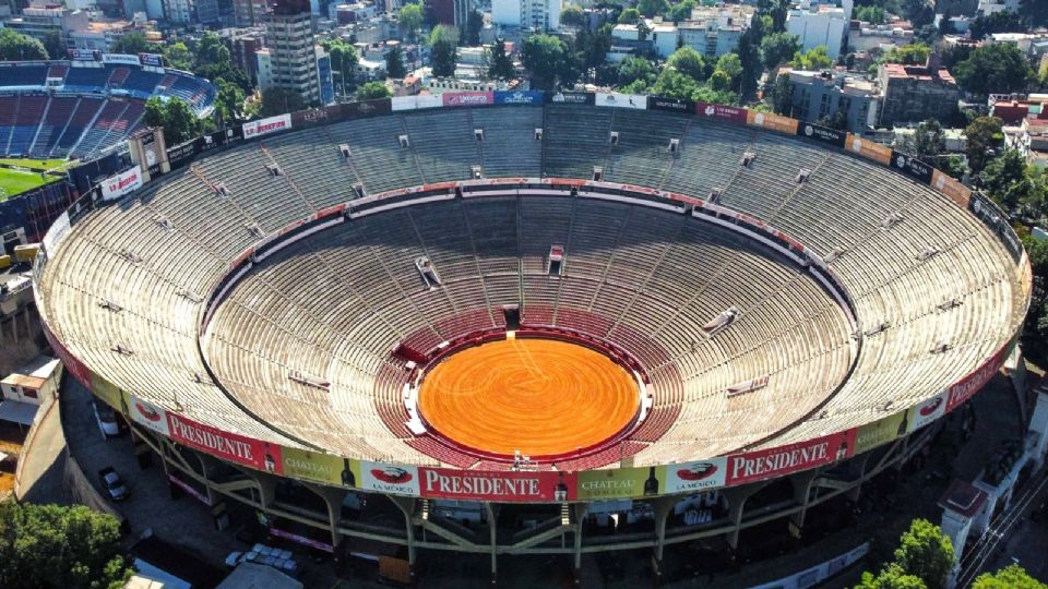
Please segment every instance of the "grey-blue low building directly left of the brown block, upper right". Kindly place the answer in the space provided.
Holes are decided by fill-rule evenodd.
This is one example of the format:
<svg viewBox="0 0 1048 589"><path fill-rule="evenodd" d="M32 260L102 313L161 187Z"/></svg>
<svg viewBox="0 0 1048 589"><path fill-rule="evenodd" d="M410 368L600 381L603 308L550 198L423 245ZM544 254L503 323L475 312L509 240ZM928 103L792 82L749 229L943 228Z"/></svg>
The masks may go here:
<svg viewBox="0 0 1048 589"><path fill-rule="evenodd" d="M881 94L872 82L847 72L779 71L784 73L793 89L790 117L817 122L843 112L853 133L877 125Z"/></svg>

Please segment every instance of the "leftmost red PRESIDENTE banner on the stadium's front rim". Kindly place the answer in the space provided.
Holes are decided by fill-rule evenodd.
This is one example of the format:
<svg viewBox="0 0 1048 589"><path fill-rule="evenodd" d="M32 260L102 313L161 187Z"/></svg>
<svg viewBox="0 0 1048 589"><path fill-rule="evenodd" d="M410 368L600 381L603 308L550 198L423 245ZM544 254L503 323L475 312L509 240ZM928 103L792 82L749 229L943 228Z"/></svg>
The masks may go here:
<svg viewBox="0 0 1048 589"><path fill-rule="evenodd" d="M281 474L284 464L276 444L223 432L175 413L167 413L171 440L231 462Z"/></svg>

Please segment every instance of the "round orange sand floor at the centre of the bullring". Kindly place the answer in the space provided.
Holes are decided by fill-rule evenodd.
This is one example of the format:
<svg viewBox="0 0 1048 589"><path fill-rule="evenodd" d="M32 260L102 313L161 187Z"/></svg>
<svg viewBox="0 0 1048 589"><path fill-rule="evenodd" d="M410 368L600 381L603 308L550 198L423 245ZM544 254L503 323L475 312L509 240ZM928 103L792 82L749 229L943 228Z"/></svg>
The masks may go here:
<svg viewBox="0 0 1048 589"><path fill-rule="evenodd" d="M467 348L422 381L418 408L442 436L485 453L538 457L586 448L638 411L636 381L606 356L551 339Z"/></svg>

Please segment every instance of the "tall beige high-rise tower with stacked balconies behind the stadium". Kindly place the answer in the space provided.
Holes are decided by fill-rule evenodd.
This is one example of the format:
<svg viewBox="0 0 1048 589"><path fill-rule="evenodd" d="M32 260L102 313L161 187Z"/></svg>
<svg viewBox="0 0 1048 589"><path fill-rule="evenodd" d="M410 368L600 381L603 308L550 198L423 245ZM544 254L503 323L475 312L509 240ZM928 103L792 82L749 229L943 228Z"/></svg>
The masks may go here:
<svg viewBox="0 0 1048 589"><path fill-rule="evenodd" d="M313 43L309 1L275 2L265 21L265 48L255 51L262 89L290 89L308 105L334 101L331 57Z"/></svg>

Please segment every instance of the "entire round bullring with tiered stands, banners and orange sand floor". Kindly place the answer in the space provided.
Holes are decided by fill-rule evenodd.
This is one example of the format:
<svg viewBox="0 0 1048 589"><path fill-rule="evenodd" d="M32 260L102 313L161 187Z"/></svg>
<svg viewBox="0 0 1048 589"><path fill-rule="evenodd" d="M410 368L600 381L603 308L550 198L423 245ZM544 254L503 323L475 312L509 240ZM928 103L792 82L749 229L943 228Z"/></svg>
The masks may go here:
<svg viewBox="0 0 1048 589"><path fill-rule="evenodd" d="M85 195L36 266L51 344L212 505L492 574L532 549L577 570L609 501L656 522L621 544L656 562L735 550L748 498L857 489L1011 352L1025 253L922 163L739 108L516 94L247 123ZM354 494L403 524L331 515ZM675 509L696 495L708 516Z"/></svg>

